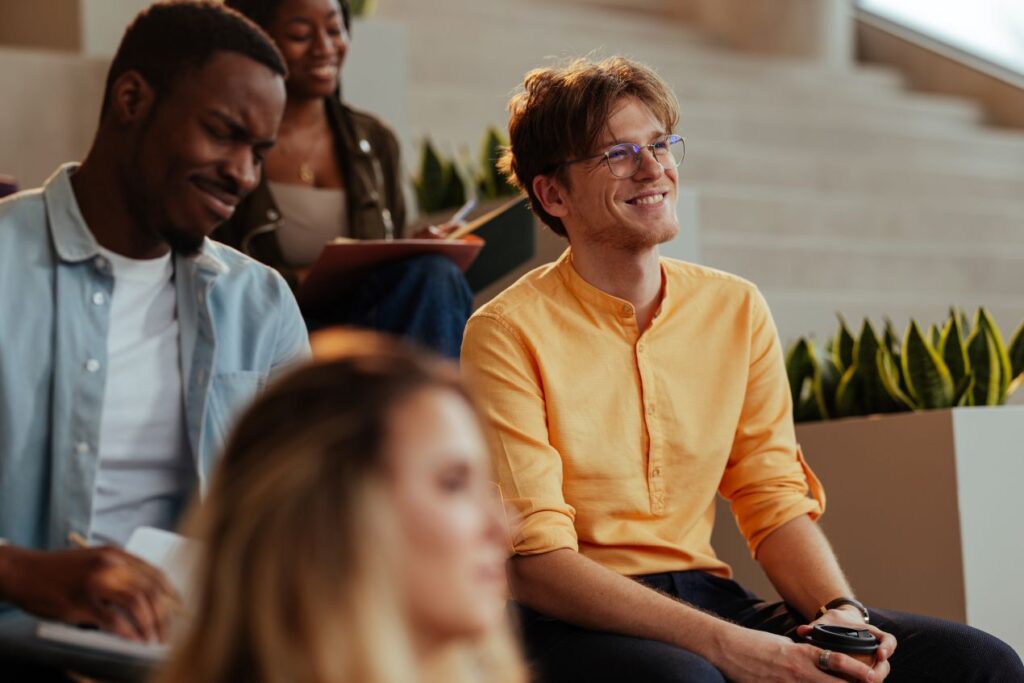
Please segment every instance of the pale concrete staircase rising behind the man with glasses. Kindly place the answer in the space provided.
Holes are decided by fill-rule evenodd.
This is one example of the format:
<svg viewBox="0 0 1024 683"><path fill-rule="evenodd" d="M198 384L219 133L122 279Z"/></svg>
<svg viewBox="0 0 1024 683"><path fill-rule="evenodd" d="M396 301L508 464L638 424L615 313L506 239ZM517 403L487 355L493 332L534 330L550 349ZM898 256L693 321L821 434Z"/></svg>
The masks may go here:
<svg viewBox="0 0 1024 683"><path fill-rule="evenodd" d="M579 1L579 0L578 0ZM380 0L410 36L409 141L474 150L552 57L627 54L682 103L700 260L756 282L783 340L848 318L1024 319L1024 133L894 72L733 53L655 14L570 0ZM458 17L458 19L453 19ZM356 36L356 41L358 37ZM357 45L356 45L357 49ZM412 160L411 160L412 161ZM543 241L539 261L562 248Z"/></svg>

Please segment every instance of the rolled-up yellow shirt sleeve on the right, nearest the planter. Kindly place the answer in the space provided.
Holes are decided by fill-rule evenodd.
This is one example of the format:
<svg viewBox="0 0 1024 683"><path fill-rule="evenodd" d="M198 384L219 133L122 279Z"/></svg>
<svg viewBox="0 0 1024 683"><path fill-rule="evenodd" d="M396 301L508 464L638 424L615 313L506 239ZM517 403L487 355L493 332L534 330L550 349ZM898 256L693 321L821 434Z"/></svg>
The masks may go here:
<svg viewBox="0 0 1024 683"><path fill-rule="evenodd" d="M817 519L824 492L797 444L785 360L768 304L753 290L750 371L739 424L719 493L732 506L751 554L801 515Z"/></svg>

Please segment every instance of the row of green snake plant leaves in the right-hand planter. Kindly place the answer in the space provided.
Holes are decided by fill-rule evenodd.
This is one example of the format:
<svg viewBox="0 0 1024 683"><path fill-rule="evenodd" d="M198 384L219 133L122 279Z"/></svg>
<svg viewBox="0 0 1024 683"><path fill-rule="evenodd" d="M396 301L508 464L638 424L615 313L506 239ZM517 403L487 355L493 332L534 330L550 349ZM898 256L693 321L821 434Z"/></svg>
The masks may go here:
<svg viewBox="0 0 1024 683"><path fill-rule="evenodd" d="M910 321L902 338L888 319L854 337L840 315L825 353L807 338L790 347L786 375L797 422L999 405L1024 384L1024 324L1008 346L984 308L973 325L958 309L927 330Z"/></svg>

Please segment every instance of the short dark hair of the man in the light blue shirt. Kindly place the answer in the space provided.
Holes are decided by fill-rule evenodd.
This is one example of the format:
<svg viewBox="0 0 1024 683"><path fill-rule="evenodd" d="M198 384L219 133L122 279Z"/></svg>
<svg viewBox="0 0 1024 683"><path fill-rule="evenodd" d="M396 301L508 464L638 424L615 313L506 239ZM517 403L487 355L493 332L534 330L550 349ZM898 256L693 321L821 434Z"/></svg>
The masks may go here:
<svg viewBox="0 0 1024 683"><path fill-rule="evenodd" d="M209 0L167 0L139 12L125 31L106 74L103 111L114 83L136 71L158 96L184 72L206 65L217 52L238 52L285 78L288 68L273 41L241 13Z"/></svg>

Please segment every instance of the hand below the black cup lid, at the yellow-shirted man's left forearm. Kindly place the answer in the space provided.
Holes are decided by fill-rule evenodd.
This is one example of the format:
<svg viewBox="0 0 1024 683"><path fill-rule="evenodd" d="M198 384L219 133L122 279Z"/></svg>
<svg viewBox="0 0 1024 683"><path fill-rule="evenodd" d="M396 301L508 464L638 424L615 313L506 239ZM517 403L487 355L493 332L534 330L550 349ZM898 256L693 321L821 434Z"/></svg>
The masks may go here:
<svg viewBox="0 0 1024 683"><path fill-rule="evenodd" d="M723 645L722 656L713 664L727 679L738 683L835 683L836 678L863 683L882 680L867 665L839 652L828 657L828 673L825 673L818 667L820 655L821 648L814 645L736 627Z"/></svg>

